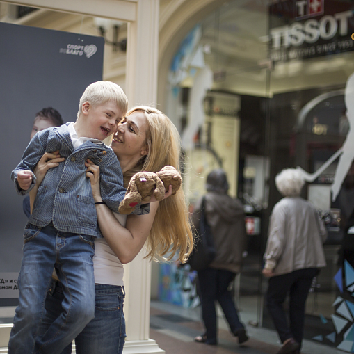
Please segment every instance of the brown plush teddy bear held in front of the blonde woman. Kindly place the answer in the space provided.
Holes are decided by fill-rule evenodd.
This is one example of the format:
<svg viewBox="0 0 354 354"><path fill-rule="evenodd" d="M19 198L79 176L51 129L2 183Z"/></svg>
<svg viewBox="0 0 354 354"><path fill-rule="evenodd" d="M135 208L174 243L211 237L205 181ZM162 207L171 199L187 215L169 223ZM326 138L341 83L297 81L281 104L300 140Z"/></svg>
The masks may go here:
<svg viewBox="0 0 354 354"><path fill-rule="evenodd" d="M172 185L172 195L176 194L181 184L181 175L173 166L165 166L157 173L138 172L131 177L118 210L120 214L130 214L134 211L136 204L150 202L152 195L156 200L163 200L170 185Z"/></svg>

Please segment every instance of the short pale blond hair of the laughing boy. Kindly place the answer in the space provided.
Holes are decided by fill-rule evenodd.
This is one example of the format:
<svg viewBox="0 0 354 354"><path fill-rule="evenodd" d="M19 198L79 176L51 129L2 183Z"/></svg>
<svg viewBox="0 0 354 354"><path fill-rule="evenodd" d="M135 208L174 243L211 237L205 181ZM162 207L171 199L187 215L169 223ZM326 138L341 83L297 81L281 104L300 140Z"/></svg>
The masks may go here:
<svg viewBox="0 0 354 354"><path fill-rule="evenodd" d="M80 98L77 118L81 115L84 102L89 102L92 106L96 107L108 101L117 104L123 116L127 113L128 99L120 86L111 81L97 81L91 83Z"/></svg>

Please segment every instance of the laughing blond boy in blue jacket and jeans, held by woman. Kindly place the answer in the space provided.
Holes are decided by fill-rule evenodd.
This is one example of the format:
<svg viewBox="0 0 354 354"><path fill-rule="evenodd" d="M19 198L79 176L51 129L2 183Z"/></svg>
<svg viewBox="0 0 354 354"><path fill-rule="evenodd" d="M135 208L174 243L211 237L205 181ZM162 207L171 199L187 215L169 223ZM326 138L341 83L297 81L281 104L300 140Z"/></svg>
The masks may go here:
<svg viewBox="0 0 354 354"><path fill-rule="evenodd" d="M77 122L35 134L13 170L17 193L24 195L35 184L32 171L44 152L59 150L65 158L47 171L24 231L19 305L9 354L61 353L94 316L93 238L102 236L85 161L89 158L99 165L102 199L118 211L125 194L122 170L113 150L102 140L115 133L127 104L127 97L115 83L92 83L80 99ZM142 214L141 210L136 214ZM54 266L64 287L63 312L45 335L36 339Z"/></svg>

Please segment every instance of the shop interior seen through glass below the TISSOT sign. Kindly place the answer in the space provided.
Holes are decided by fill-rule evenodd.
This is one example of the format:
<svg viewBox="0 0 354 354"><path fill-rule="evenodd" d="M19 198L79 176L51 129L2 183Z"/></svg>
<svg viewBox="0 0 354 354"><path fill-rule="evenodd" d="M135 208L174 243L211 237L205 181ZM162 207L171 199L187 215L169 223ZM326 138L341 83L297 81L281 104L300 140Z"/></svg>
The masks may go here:
<svg viewBox="0 0 354 354"><path fill-rule="evenodd" d="M205 192L204 177L220 167L227 172L230 195L245 206L248 255L235 282L243 321L273 328L264 307L261 271L268 219L282 198L275 175L300 166L315 176L302 197L316 206L328 229L327 266L307 300L305 337L328 336L323 343L337 346L342 339L331 334L340 295L336 276L346 247L344 230L354 210L354 168L343 176L334 201L330 186L341 174L338 152L350 132L344 89L354 72L354 54L348 49L313 58L268 59L268 33L285 19L266 1L228 1L196 24L171 63L167 109L186 147L191 210ZM202 106L195 104L198 90L204 92ZM201 110L204 123L195 130L192 120ZM328 166L319 170L324 163ZM353 321L349 312L347 318Z"/></svg>

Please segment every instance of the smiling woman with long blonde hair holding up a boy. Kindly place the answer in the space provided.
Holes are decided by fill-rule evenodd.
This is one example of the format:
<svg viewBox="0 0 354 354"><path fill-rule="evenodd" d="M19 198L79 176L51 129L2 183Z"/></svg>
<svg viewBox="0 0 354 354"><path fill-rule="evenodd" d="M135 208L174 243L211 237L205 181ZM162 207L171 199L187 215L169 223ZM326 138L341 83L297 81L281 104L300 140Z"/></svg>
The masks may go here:
<svg viewBox="0 0 354 354"><path fill-rule="evenodd" d="M120 161L125 187L141 170L158 172L166 165L179 170L179 134L166 115L155 108L138 106L128 111L118 126L111 147ZM54 159L47 161L50 158ZM60 161L62 159L56 154L46 153L38 163L36 176L58 166ZM86 166L95 202L102 202L99 167L91 163ZM40 184L40 178L38 181ZM171 193L170 188L166 197ZM33 194L35 191L31 199ZM193 238L182 188L161 202L152 202L150 213L143 216L114 214L104 204L96 204L96 209L104 239L95 240L95 319L75 339L76 351L79 354L122 353L125 337L123 264L138 255L145 241L150 259L167 254L171 259L175 252L179 252L179 260L185 262ZM62 298L60 283L54 282L47 296L47 316L41 333L58 316ZM63 353L70 352L71 344Z"/></svg>

